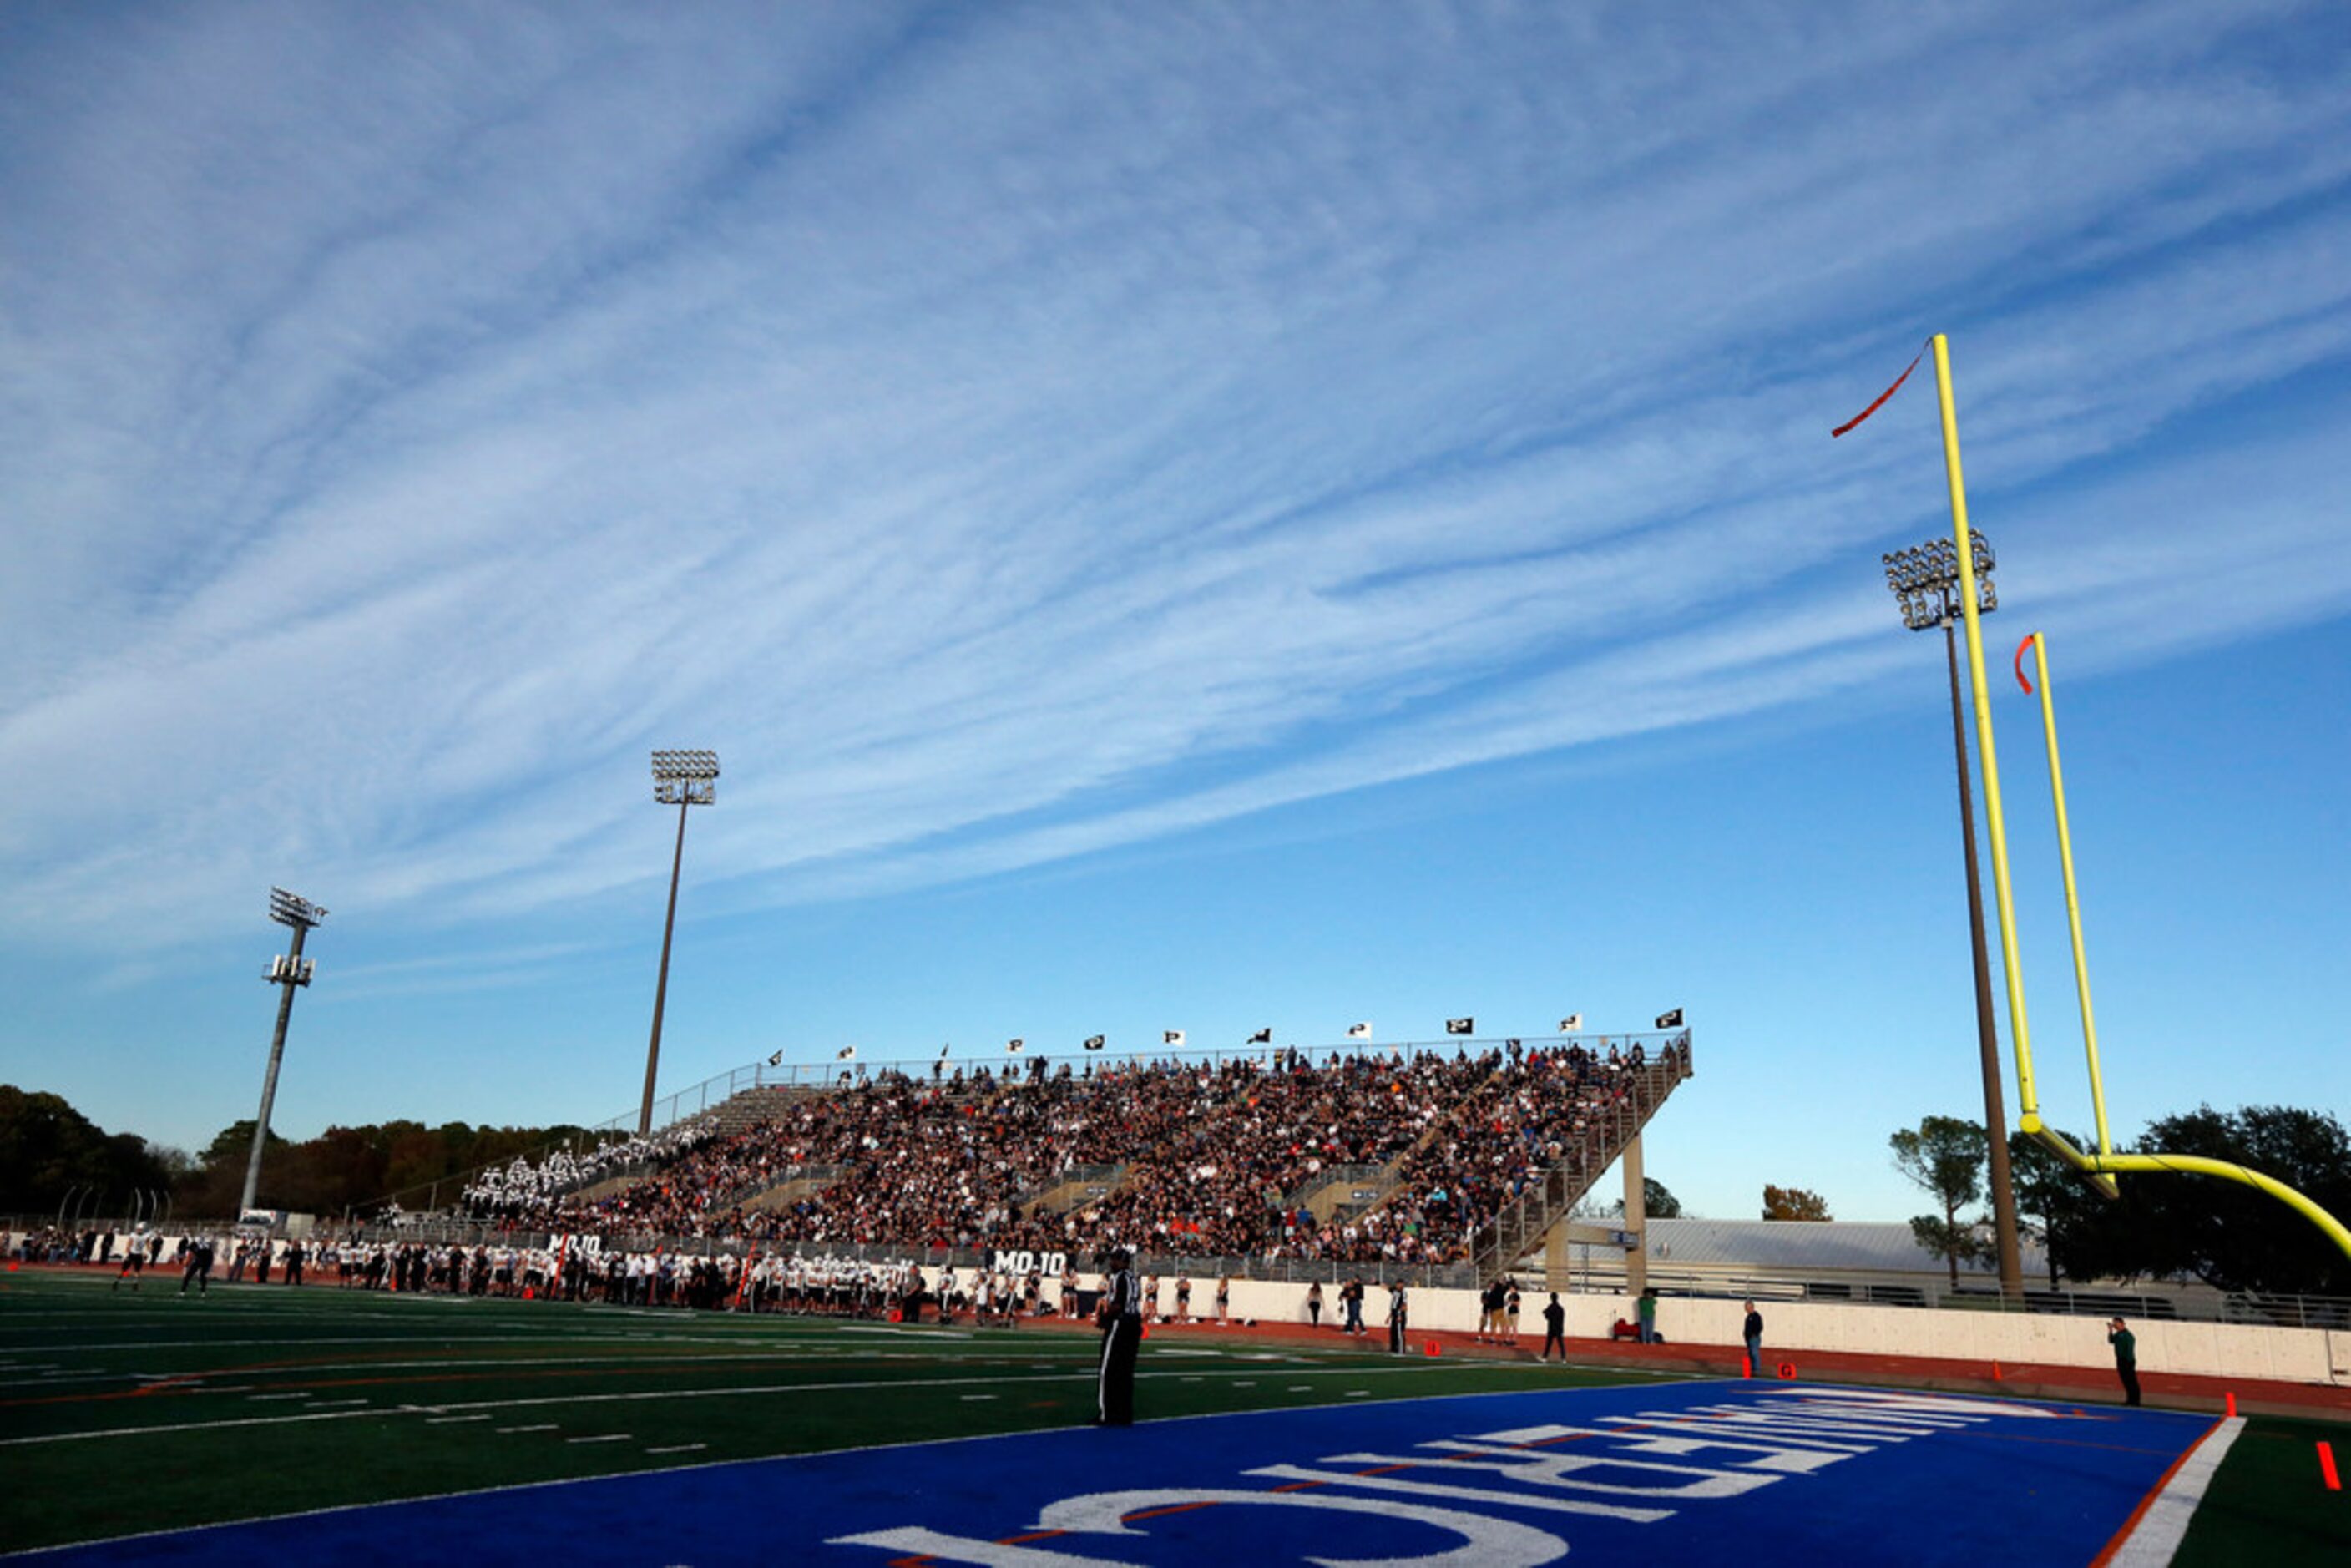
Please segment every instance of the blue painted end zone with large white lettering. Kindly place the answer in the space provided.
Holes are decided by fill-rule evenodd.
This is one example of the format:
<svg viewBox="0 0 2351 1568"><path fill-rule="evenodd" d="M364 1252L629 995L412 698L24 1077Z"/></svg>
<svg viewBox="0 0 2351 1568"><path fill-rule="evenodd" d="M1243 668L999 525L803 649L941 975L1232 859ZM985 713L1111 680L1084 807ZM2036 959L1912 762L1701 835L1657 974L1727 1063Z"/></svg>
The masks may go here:
<svg viewBox="0 0 2351 1568"><path fill-rule="evenodd" d="M42 1561L2090 1563L2210 1429L1784 1382L1479 1394L708 1465Z"/></svg>

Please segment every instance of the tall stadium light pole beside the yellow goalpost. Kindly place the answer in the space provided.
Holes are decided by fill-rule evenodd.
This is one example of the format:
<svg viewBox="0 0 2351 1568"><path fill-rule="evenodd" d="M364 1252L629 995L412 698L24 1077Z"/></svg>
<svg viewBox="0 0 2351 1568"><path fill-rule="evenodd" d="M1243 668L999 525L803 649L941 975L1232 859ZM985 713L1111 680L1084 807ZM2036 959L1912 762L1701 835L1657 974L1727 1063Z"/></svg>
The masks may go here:
<svg viewBox="0 0 2351 1568"><path fill-rule="evenodd" d="M1975 555L1975 595L1982 611L2001 607L1991 585L1991 541L1968 529ZM1991 954L1984 945L1984 882L1975 865L1975 790L1968 780L1968 726L1958 698L1958 545L1930 538L1886 557L1886 585L1902 602L1902 625L1914 632L1942 628L1944 661L1951 665L1951 755L1958 762L1958 839L1968 863L1968 943L1975 957L1975 1039L1984 1060L1984 1128L1991 1157L1991 1237L2001 1269L2001 1295L2024 1298L2024 1255L2017 1248L2017 1190L2008 1171L2008 1103L2001 1095L2001 1037L1991 1023Z"/></svg>

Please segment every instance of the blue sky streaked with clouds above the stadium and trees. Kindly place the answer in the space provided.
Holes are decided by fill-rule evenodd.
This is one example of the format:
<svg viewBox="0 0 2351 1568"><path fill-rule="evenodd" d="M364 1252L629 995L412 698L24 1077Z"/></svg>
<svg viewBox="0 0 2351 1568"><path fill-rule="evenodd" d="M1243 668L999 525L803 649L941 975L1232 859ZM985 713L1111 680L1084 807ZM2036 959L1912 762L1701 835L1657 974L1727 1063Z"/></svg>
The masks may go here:
<svg viewBox="0 0 2351 1568"><path fill-rule="evenodd" d="M284 884L280 1131L618 1114L708 745L663 1088L1686 1006L1653 1175L1902 1218L1947 331L2118 1126L2339 1110L2346 197L2335 5L12 7L0 1079L249 1117Z"/></svg>

